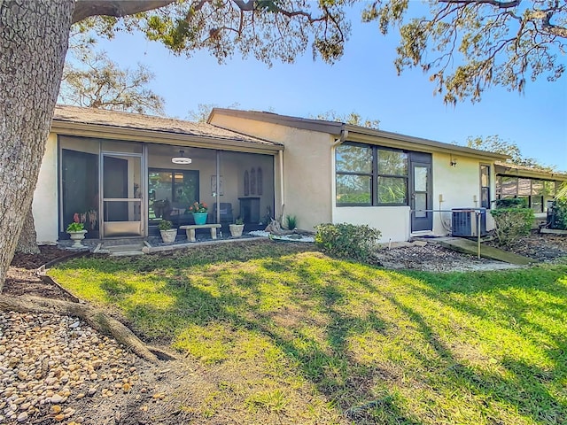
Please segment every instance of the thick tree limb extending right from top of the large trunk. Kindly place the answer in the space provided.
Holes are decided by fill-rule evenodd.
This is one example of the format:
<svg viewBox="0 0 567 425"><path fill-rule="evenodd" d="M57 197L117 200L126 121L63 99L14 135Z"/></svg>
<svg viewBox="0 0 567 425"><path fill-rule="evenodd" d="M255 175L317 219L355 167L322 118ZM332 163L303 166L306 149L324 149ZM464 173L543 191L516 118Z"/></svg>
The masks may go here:
<svg viewBox="0 0 567 425"><path fill-rule="evenodd" d="M120 18L158 9L174 2L175 0L77 0L74 6L73 23L95 15Z"/></svg>

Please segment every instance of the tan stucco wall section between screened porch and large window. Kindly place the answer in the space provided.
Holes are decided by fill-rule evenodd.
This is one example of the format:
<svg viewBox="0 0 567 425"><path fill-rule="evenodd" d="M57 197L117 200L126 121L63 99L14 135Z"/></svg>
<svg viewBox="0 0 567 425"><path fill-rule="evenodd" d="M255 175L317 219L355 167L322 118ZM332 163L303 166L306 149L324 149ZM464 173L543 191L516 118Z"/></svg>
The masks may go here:
<svg viewBox="0 0 567 425"><path fill-rule="evenodd" d="M334 179L330 135L220 114L214 115L212 124L283 143L283 200L278 202L276 198L276 216L282 214L283 204L283 215L295 215L299 228L313 229L317 224L330 222L330 181ZM276 158L276 184L278 168Z"/></svg>

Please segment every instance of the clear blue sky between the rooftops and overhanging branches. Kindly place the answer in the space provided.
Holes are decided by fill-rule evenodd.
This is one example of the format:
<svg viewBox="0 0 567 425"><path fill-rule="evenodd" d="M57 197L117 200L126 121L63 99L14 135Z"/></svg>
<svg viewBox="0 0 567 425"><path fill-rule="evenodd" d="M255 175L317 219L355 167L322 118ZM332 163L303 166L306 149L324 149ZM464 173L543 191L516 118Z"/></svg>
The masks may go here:
<svg viewBox="0 0 567 425"><path fill-rule="evenodd" d="M148 66L151 89L165 98L167 115L186 118L198 104L271 111L308 118L333 110L380 120L380 128L445 143L468 136L500 135L515 142L525 157L567 171L567 75L560 81L529 82L523 95L488 89L478 104L447 106L433 96L433 84L420 70L396 75L396 34L380 35L376 24L353 21L345 56L333 66L314 61L311 51L295 64L268 68L254 58L219 65L209 53L175 57L143 35L120 34L101 40L120 66ZM560 56L560 55L559 55ZM559 57L567 63L563 55Z"/></svg>

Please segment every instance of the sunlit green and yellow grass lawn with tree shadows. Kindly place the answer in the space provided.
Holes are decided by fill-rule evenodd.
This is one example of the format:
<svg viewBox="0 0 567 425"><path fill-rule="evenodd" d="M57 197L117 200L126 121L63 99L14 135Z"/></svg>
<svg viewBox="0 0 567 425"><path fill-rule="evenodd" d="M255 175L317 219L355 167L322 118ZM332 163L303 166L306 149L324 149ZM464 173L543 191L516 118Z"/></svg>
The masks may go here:
<svg viewBox="0 0 567 425"><path fill-rule="evenodd" d="M50 275L214 377L195 423L567 423L567 265L400 273L267 242Z"/></svg>

